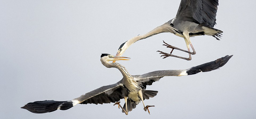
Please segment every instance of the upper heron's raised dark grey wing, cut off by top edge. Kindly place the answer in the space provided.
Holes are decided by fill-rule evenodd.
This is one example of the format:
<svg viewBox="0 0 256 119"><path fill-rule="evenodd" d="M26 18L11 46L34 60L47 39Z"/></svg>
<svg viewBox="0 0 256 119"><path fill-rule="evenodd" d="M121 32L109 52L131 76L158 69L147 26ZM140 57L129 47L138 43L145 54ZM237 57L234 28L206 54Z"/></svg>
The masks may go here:
<svg viewBox="0 0 256 119"><path fill-rule="evenodd" d="M216 13L219 0L181 0L176 18L197 24L216 24Z"/></svg>

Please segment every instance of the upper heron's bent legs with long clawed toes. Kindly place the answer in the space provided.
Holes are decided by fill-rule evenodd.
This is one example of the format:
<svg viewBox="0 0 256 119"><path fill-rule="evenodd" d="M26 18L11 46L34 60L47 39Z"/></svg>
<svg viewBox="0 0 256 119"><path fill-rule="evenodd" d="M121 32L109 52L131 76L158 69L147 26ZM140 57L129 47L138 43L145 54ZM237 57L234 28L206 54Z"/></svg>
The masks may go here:
<svg viewBox="0 0 256 119"><path fill-rule="evenodd" d="M184 58L184 57L172 55L172 51L171 51L170 54L164 53L164 52L162 52L162 51L156 51L156 52L160 52L159 54L164 54L164 55L162 55L162 56L164 56L164 58L167 58L167 57L171 56L171 57L177 57L177 58L184 59L184 60L191 60L191 59L192 59L192 58L191 58L191 54L196 54L196 51L195 51L195 49L194 49L194 47L192 46L192 43L191 43L191 41L190 41L189 33L188 33L188 32L183 32L183 35L184 35L184 37L185 37L184 40L185 40L185 42L186 42L186 46L187 46L187 48L188 48L188 51L182 50L182 49L180 49L180 48L178 48L178 47L171 46L171 45L169 45L169 44L167 44L167 43L165 43L165 42L164 42L164 45L163 45L163 46L167 46L168 48L172 48L172 51L173 51L174 49L176 49L176 50L180 50L180 51L186 52L186 53L188 53L189 58ZM190 52L189 45L191 46L193 52ZM161 57L162 57L162 56L161 56ZM163 58L163 59L164 59L164 58Z"/></svg>

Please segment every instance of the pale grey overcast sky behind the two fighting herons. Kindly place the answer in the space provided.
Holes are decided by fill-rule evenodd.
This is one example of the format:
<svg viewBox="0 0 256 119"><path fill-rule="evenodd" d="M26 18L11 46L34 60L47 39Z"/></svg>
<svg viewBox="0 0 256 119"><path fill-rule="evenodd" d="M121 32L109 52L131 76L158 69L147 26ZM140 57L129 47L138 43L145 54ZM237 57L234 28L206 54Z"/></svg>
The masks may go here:
<svg viewBox="0 0 256 119"><path fill-rule="evenodd" d="M76 105L34 114L20 107L42 100L67 101L101 86L116 83L122 74L100 62L101 53L115 55L126 40L144 34L175 17L177 0L18 1L0 0L0 119L168 118L255 119L255 1L220 0L210 36L191 38L191 61L160 58L170 52L165 42L186 49L183 38L161 33L126 50L129 61L118 61L132 75L155 70L187 69L225 55L234 55L220 70L181 77L164 77L148 86L157 90L125 115L110 104ZM187 57L187 53L173 51ZM121 100L124 104L124 99Z"/></svg>

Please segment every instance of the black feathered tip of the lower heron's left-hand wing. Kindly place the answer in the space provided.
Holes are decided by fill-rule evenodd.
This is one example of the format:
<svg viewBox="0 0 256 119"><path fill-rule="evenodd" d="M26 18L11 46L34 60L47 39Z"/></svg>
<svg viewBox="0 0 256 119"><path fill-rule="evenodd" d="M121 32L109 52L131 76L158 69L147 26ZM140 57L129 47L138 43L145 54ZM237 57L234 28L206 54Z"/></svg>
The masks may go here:
<svg viewBox="0 0 256 119"><path fill-rule="evenodd" d="M67 110L73 107L72 103L72 101L45 100L30 102L21 108L27 109L28 111L33 113L46 113L55 111L57 109Z"/></svg>

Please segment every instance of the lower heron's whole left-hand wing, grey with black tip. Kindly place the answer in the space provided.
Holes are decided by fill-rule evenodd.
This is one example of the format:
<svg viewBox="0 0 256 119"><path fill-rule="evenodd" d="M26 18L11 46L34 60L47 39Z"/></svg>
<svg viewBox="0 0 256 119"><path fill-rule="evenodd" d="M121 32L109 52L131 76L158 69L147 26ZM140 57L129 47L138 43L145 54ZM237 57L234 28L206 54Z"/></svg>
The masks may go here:
<svg viewBox="0 0 256 119"><path fill-rule="evenodd" d="M71 101L35 101L30 102L21 108L27 109L28 111L33 113L46 113L55 111L57 109L67 110L78 103L103 104L120 101L120 99L124 98L122 93L126 93L126 89L123 88L123 84L121 83L121 81L112 85L100 87Z"/></svg>

